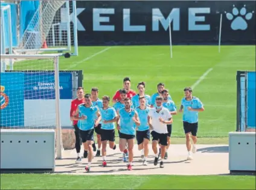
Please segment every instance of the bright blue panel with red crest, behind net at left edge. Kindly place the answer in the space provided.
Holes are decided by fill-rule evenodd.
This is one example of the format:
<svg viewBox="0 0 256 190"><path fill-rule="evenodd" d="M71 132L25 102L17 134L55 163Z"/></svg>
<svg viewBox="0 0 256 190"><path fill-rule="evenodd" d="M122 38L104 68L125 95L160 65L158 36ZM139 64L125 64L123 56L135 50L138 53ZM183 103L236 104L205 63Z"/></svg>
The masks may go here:
<svg viewBox="0 0 256 190"><path fill-rule="evenodd" d="M0 127L24 126L24 73L1 73Z"/></svg>

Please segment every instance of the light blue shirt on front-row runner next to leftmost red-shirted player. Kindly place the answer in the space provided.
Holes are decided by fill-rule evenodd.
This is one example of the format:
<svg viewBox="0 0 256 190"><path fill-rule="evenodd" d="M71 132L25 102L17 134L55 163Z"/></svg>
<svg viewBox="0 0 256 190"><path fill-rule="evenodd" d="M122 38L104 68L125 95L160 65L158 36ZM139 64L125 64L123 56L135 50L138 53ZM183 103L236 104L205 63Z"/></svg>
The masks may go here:
<svg viewBox="0 0 256 190"><path fill-rule="evenodd" d="M94 129L95 118L97 118L98 108L95 106L90 106L86 108L85 104L78 105L79 117L82 115L87 116L85 120L78 120L77 126L80 130L90 130Z"/></svg>

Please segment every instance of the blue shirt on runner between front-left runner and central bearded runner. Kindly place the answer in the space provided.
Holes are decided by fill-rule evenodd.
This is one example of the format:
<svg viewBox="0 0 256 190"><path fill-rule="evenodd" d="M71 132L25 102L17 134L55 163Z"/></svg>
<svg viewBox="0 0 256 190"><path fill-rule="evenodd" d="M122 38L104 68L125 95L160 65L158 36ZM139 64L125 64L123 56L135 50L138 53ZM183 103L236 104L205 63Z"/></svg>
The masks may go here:
<svg viewBox="0 0 256 190"><path fill-rule="evenodd" d="M117 117L117 112L113 107L108 107L107 109L100 108L100 114L101 114L101 121L104 121L104 120L109 121ZM106 129L106 130L115 129L115 124L114 122L107 123L107 124L104 124L102 122L101 129Z"/></svg>

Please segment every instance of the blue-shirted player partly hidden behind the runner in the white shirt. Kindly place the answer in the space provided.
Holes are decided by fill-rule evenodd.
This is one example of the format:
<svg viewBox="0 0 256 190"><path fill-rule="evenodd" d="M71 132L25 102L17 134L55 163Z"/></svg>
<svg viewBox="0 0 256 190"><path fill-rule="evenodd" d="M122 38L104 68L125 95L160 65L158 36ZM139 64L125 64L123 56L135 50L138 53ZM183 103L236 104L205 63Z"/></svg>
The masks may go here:
<svg viewBox="0 0 256 190"><path fill-rule="evenodd" d="M162 97L164 99L163 103L162 103L162 106L164 106L165 108L168 109L168 111L170 111L170 114L171 115L176 115L177 114L177 109L176 109L176 105L175 103L173 102L173 100L168 100L168 97L169 97L169 91L164 89L162 90L161 92L162 94ZM167 130L168 130L168 134L167 134L167 146L165 147L165 155L164 155L164 159L167 159L168 158L168 149L170 147L170 144L171 144L171 129L172 129L172 124L167 124Z"/></svg>

